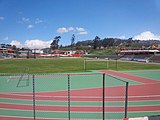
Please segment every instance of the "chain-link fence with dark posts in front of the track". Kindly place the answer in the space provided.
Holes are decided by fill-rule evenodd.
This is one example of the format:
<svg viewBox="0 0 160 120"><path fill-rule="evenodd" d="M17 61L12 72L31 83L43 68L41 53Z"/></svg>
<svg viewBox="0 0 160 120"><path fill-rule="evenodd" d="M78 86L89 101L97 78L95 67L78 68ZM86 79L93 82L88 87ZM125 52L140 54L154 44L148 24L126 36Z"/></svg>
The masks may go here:
<svg viewBox="0 0 160 120"><path fill-rule="evenodd" d="M127 89L127 82L100 73L1 75L0 118L123 119Z"/></svg>

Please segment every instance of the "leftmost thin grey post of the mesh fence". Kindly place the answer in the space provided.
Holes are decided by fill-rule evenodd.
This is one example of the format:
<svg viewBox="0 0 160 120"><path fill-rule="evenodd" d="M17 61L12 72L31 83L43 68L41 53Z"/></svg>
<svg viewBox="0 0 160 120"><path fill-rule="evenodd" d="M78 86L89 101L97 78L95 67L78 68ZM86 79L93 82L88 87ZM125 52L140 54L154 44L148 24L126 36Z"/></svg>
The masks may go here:
<svg viewBox="0 0 160 120"><path fill-rule="evenodd" d="M33 117L36 120L36 104L35 104L35 75L33 75Z"/></svg>

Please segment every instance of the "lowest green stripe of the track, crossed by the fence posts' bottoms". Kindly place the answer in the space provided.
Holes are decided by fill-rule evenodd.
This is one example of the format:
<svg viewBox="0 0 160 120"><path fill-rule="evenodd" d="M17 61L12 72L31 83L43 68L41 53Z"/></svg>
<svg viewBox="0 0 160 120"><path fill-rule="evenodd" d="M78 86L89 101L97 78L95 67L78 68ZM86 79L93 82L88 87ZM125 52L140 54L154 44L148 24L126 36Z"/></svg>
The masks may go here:
<svg viewBox="0 0 160 120"><path fill-rule="evenodd" d="M159 112L134 112L129 113L128 116L135 117L135 116L149 116L149 115L158 115ZM19 117L29 117L33 118L33 112L32 111L15 111L15 110L1 110L0 115L3 116L19 116ZM108 119L116 120L121 119L122 113L106 113L105 114ZM113 117L114 116L114 117ZM37 118L67 118L68 113L60 113L60 112L37 112ZM102 119L102 113L72 113L71 117L74 119ZM114 119L113 119L114 118ZM122 119L121 119L122 120Z"/></svg>

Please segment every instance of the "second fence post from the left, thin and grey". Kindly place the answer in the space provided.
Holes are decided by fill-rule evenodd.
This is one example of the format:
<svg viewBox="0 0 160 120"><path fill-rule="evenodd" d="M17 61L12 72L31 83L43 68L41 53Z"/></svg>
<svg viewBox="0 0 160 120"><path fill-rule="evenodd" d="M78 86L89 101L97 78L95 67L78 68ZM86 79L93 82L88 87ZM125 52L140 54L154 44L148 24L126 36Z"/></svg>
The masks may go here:
<svg viewBox="0 0 160 120"><path fill-rule="evenodd" d="M68 74L68 120L71 119L71 101L70 101L70 75Z"/></svg>

